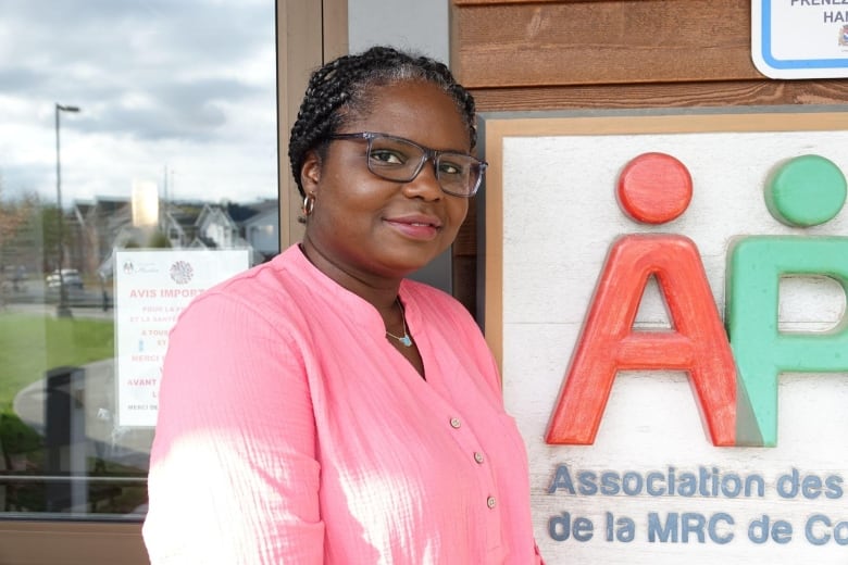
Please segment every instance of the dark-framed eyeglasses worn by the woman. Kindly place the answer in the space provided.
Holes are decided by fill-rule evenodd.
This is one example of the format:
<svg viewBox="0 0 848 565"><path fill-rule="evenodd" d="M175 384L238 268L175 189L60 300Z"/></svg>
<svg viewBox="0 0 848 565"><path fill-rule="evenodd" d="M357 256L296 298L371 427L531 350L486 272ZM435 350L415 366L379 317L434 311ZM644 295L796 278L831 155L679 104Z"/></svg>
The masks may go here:
<svg viewBox="0 0 848 565"><path fill-rule="evenodd" d="M479 188L488 163L466 153L438 151L402 137L359 131L336 134L329 139L366 139L371 173L386 180L410 183L427 161L433 163L441 190L454 197L471 198Z"/></svg>

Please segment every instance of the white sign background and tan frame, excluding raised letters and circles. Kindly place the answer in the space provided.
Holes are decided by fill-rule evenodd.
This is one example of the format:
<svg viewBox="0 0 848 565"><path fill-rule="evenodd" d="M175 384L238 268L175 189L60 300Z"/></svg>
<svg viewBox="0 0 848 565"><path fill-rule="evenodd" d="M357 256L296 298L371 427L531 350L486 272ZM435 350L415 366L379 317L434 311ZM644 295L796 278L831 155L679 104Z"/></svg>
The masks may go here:
<svg viewBox="0 0 848 565"><path fill-rule="evenodd" d="M822 225L789 227L764 199L770 174L799 155L848 173L846 129L848 114L837 113L483 121L492 172L485 329L500 356L508 412L527 444L535 535L547 563L848 563L848 359L845 372L781 376L776 447L715 447L691 379L665 369L619 372L589 444L546 441L614 241L691 239L722 314L735 242L835 237L848 258L848 210ZM656 225L631 219L616 198L622 170L648 152L676 158L693 186L683 213ZM623 291L624 280L609 282L613 296L616 285ZM848 323L839 282L784 282L783 330L815 335ZM632 330L669 328L666 298L649 281ZM654 354L664 355L661 348Z"/></svg>

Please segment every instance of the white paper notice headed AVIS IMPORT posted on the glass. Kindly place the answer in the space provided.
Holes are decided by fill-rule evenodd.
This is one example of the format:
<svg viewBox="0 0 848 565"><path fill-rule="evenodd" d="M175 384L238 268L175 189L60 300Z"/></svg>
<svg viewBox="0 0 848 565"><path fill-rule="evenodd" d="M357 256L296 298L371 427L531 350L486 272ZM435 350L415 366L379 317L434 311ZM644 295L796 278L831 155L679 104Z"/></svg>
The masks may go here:
<svg viewBox="0 0 848 565"><path fill-rule="evenodd" d="M116 250L114 256L117 425L155 426L171 328L195 297L248 268L249 253Z"/></svg>

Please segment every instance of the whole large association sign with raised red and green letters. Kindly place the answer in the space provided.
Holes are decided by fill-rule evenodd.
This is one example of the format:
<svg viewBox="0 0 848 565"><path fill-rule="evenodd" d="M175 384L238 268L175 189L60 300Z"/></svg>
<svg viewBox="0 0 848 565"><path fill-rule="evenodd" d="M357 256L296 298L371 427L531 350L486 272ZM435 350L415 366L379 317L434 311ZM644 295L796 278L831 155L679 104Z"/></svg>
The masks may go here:
<svg viewBox="0 0 848 565"><path fill-rule="evenodd" d="M484 115L548 563L848 562L848 113Z"/></svg>

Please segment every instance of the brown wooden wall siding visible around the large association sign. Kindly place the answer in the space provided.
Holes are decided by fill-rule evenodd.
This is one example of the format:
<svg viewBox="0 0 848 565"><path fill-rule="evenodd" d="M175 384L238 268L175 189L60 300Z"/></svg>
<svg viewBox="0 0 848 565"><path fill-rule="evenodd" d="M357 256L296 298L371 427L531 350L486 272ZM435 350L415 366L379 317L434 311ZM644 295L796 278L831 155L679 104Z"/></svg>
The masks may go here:
<svg viewBox="0 0 848 565"><path fill-rule="evenodd" d="M848 79L774 80L750 0L451 0L450 65L481 112L848 103ZM477 213L454 244L476 306Z"/></svg>

